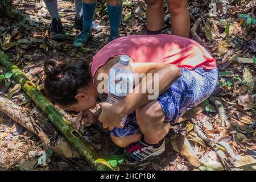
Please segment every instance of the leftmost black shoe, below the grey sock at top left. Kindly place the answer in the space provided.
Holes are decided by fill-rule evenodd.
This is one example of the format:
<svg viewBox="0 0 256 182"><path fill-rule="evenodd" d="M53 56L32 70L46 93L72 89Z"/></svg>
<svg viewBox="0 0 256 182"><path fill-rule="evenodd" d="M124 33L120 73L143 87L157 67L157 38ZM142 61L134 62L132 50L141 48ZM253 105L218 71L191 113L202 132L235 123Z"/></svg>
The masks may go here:
<svg viewBox="0 0 256 182"><path fill-rule="evenodd" d="M52 39L64 39L64 31L61 20L59 17L53 18L51 23L51 34Z"/></svg>

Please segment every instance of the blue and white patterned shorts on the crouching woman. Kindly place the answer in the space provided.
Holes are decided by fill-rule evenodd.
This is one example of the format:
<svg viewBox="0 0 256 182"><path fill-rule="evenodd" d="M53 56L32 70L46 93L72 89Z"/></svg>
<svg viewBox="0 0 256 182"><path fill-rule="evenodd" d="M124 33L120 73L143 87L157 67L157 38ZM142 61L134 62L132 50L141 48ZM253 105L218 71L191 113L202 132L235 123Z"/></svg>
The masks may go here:
<svg viewBox="0 0 256 182"><path fill-rule="evenodd" d="M185 111L192 109L212 94L218 82L218 68L205 70L201 67L189 70L180 68L182 75L170 88L158 97L165 121L174 124ZM125 127L109 131L114 137L125 137L141 133L135 111L127 115Z"/></svg>

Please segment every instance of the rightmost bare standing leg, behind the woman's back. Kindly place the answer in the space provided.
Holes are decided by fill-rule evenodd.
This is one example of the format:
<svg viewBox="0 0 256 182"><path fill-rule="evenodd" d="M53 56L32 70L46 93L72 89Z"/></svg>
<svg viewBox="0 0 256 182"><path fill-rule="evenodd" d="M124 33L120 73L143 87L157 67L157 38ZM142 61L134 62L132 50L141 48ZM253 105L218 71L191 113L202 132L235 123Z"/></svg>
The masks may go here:
<svg viewBox="0 0 256 182"><path fill-rule="evenodd" d="M187 0L167 0L171 14L171 29L173 35L188 37L190 17Z"/></svg>

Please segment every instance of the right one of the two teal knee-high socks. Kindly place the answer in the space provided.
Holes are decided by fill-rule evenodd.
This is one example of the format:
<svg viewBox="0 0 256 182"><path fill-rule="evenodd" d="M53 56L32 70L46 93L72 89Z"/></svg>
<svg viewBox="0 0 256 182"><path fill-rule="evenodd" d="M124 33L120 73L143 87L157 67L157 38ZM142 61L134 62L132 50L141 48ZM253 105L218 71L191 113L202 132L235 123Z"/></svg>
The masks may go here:
<svg viewBox="0 0 256 182"><path fill-rule="evenodd" d="M119 36L119 24L122 16L122 2L117 6L107 5L109 22L110 22L110 36Z"/></svg>

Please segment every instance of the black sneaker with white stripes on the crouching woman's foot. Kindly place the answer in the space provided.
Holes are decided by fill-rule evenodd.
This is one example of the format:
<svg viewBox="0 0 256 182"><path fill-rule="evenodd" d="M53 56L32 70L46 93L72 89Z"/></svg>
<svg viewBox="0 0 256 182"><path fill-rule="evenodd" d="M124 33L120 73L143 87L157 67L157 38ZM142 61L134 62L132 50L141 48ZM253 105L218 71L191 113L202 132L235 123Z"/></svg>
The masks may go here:
<svg viewBox="0 0 256 182"><path fill-rule="evenodd" d="M139 140L139 142L135 142L125 149L118 148L112 152L112 155L123 155L127 160L126 163L122 165L134 166L155 159L159 155L163 154L164 150L164 139L159 142L157 147Z"/></svg>

